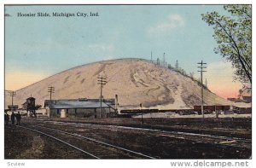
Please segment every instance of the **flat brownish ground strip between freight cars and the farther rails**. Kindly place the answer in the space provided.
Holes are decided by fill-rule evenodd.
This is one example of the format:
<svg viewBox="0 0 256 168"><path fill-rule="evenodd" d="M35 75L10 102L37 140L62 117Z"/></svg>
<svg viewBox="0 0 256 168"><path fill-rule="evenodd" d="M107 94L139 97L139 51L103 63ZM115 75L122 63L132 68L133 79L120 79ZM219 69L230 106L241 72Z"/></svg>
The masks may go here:
<svg viewBox="0 0 256 168"><path fill-rule="evenodd" d="M96 125L124 125L160 130L185 131L193 133L211 134L217 136L231 136L252 138L252 119L51 119L63 122L89 123Z"/></svg>

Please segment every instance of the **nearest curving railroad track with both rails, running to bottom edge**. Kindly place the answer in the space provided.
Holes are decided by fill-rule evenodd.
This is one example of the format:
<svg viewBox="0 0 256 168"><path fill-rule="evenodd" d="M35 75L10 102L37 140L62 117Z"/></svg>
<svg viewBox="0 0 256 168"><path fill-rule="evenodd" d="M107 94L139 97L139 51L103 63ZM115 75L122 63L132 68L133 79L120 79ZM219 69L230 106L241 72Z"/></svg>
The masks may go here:
<svg viewBox="0 0 256 168"><path fill-rule="evenodd" d="M52 139L55 139L57 142L62 142L67 146L74 148L75 150L79 150L81 153L87 154L90 158L93 159L155 159L152 156L147 154L141 154L136 151L132 151L127 148L122 148L113 144L109 144L107 142L98 141L94 138L90 138L88 136L82 136L76 133L71 133L63 130L56 130L44 126L34 126L33 128L25 126L17 125L20 128L26 130L32 130L34 132L38 132L44 136L48 136ZM41 130L35 129L39 128ZM50 133L47 133L47 130L50 130ZM55 132L54 136L52 135ZM56 137L56 134L59 134L60 137ZM72 138L75 137L75 139ZM64 141L63 139L66 139ZM74 143L76 145L74 145ZM93 152L88 152L93 151ZM94 154L92 154L94 153Z"/></svg>

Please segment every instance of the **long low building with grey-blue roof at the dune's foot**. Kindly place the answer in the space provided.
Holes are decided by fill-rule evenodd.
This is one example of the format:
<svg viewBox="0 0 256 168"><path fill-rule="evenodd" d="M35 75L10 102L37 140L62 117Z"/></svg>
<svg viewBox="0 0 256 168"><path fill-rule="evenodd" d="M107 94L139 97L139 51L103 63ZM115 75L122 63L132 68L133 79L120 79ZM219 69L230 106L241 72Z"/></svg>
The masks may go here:
<svg viewBox="0 0 256 168"><path fill-rule="evenodd" d="M49 111L49 117L109 118L116 116L114 101L102 100L101 116L99 99L45 100L44 107Z"/></svg>

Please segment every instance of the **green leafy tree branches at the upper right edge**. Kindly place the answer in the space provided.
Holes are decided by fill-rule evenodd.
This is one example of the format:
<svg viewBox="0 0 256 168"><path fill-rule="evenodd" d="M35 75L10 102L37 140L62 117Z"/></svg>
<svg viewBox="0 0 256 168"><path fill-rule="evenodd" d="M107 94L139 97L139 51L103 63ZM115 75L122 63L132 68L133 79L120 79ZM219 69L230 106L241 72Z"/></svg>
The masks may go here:
<svg viewBox="0 0 256 168"><path fill-rule="evenodd" d="M214 11L201 14L213 26L218 48L214 49L235 69L235 79L252 84L252 6L224 5L230 16Z"/></svg>

